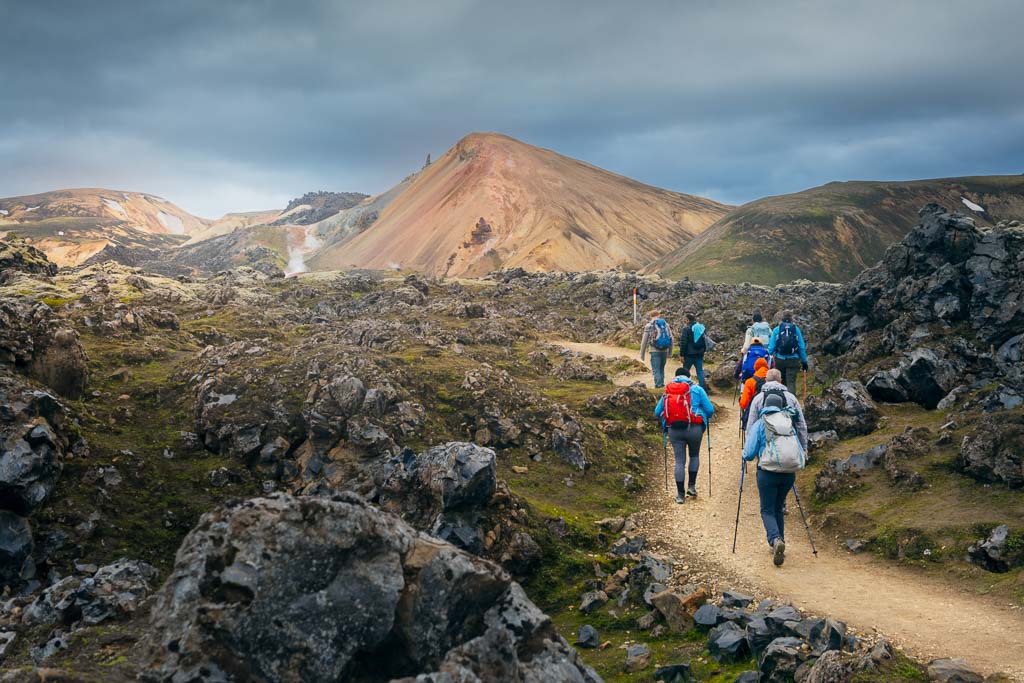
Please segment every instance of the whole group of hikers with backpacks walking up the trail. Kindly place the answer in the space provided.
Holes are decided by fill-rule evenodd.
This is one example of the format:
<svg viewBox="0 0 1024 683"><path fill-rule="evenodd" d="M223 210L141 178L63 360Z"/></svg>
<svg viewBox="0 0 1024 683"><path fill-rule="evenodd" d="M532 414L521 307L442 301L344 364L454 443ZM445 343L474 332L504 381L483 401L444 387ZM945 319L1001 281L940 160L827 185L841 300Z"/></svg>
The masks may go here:
<svg viewBox="0 0 1024 683"><path fill-rule="evenodd" d="M807 454L807 423L803 405L797 398L801 371L804 373L806 397L807 346L803 332L793 317L793 311L781 311L778 326L772 329L761 311L755 311L734 369L743 443L739 495L742 497L746 463L757 460L761 519L776 566L785 559L786 499L791 490L796 495L797 472L804 467ZM715 416L703 374L705 353L714 348L715 342L694 313L686 313L685 318L686 323L678 335L678 358L682 367L676 370L675 378L668 384L665 368L676 347L676 338L658 311L651 312L640 344L641 359L648 350L650 352L654 386L665 388L654 415L662 420L666 450L668 443L672 443L676 463L676 503L679 504L685 503L687 497L695 498L697 495L700 446L709 422ZM691 369L696 371L696 381L690 377ZM710 447L709 438L709 451ZM800 503L799 498L797 502ZM737 529L738 524L739 503L736 509Z"/></svg>

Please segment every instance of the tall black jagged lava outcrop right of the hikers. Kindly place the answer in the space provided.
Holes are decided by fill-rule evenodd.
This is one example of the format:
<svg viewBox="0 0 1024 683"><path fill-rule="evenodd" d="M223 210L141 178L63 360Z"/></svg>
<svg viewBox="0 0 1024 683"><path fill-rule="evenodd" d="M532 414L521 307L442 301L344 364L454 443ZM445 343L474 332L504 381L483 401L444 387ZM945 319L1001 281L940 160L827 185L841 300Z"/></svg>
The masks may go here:
<svg viewBox="0 0 1024 683"><path fill-rule="evenodd" d="M936 204L920 216L837 298L824 351L840 356L842 370L873 368L867 389L886 402L931 409L961 382L1020 385L1024 373L1010 359L1024 329L1024 232L982 230ZM889 359L901 354L893 368Z"/></svg>

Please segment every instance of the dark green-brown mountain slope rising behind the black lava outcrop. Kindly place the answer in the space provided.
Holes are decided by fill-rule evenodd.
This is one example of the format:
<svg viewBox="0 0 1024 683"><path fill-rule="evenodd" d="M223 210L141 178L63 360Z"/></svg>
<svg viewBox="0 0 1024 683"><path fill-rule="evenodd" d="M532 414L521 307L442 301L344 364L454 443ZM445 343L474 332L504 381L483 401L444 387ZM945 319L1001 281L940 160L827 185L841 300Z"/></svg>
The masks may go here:
<svg viewBox="0 0 1024 683"><path fill-rule="evenodd" d="M978 225L1024 219L1024 176L830 182L767 197L733 210L647 271L719 283L845 282L901 240L929 202Z"/></svg>

